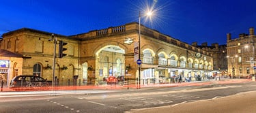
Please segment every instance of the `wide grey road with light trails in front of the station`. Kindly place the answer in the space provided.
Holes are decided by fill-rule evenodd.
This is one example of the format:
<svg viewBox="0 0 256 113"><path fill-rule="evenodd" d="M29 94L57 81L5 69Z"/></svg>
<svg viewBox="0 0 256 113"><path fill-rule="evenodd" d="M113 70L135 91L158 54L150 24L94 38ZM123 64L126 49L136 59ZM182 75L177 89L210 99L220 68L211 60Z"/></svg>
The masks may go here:
<svg viewBox="0 0 256 113"><path fill-rule="evenodd" d="M248 96L255 93L246 93L249 91L256 91L256 82L211 82L130 90L41 91L0 95L0 112L250 112L245 108L248 104L254 107L256 103Z"/></svg>

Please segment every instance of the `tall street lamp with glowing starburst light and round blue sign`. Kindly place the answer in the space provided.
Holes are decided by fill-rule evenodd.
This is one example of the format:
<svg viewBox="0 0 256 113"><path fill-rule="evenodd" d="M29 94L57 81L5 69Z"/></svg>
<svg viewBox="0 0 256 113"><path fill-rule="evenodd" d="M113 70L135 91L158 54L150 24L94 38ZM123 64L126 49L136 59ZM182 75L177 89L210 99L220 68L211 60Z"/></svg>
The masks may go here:
<svg viewBox="0 0 256 113"><path fill-rule="evenodd" d="M148 11L143 16L152 16L152 12ZM141 11L139 11L139 60L141 60ZM141 88L141 65L139 65L139 88Z"/></svg>

